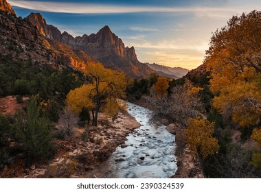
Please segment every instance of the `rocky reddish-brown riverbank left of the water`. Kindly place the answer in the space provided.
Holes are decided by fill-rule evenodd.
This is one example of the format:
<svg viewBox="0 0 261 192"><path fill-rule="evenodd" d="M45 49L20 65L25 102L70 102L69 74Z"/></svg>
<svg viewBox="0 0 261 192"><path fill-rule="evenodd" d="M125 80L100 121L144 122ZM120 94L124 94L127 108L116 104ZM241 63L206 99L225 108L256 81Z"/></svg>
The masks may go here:
<svg viewBox="0 0 261 192"><path fill-rule="evenodd" d="M126 136L140 124L128 112L115 119L99 115L98 127L73 127L71 136L56 139L56 154L48 163L25 167L23 156L10 167L1 170L1 178L103 178L110 167L104 163ZM61 129L56 124L56 132Z"/></svg>

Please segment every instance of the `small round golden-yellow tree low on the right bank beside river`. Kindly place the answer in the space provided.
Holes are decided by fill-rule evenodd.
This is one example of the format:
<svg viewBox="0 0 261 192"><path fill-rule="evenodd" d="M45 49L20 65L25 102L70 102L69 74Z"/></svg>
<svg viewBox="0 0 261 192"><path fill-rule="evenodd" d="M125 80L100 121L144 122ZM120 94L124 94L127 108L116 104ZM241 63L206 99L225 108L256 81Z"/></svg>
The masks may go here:
<svg viewBox="0 0 261 192"><path fill-rule="evenodd" d="M214 123L210 123L207 120L189 119L188 128L184 130L187 137L187 143L190 150L194 154L198 153L203 158L213 155L217 152L219 145L218 140L212 135L214 133Z"/></svg>

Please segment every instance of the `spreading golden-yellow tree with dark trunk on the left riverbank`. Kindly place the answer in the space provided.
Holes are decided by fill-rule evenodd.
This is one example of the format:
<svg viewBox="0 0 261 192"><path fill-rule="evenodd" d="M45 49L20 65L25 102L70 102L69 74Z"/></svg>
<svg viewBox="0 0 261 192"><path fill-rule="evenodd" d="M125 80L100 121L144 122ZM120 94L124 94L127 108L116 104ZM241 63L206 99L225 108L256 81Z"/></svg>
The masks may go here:
<svg viewBox="0 0 261 192"><path fill-rule="evenodd" d="M67 103L80 113L83 108L91 110L93 125L97 126L98 112L115 115L121 108L117 100L125 96L126 77L123 73L105 69L100 63L89 63L84 70L88 84L69 92Z"/></svg>

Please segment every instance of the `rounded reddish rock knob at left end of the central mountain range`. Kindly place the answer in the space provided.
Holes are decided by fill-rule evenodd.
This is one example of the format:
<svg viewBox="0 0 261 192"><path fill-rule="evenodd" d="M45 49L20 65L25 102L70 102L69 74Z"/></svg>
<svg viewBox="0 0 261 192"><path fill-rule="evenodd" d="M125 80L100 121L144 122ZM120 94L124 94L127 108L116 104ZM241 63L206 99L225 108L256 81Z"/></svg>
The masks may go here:
<svg viewBox="0 0 261 192"><path fill-rule="evenodd" d="M32 25L34 25L38 29L38 31L43 36L47 36L47 24L40 13L31 13L29 16L27 16L27 19L30 23L32 23Z"/></svg>

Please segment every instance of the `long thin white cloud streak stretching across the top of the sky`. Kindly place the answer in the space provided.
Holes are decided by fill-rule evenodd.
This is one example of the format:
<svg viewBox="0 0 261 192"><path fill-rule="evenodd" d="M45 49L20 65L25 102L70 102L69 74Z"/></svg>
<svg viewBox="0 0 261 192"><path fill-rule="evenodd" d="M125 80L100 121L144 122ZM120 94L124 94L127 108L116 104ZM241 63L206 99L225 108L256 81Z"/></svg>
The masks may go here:
<svg viewBox="0 0 261 192"><path fill-rule="evenodd" d="M73 14L120 14L135 12L216 12L216 11L237 11L235 8L209 8L209 7L190 7L174 8L159 6L124 6L94 3L58 3L43 1L8 1L12 6L29 10L45 12L63 12Z"/></svg>

